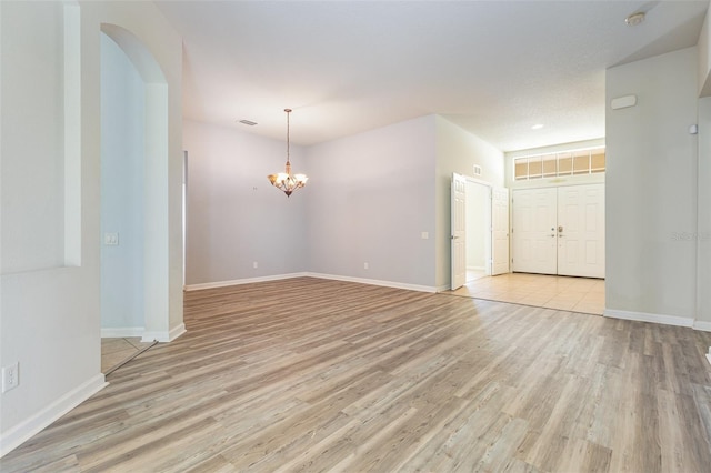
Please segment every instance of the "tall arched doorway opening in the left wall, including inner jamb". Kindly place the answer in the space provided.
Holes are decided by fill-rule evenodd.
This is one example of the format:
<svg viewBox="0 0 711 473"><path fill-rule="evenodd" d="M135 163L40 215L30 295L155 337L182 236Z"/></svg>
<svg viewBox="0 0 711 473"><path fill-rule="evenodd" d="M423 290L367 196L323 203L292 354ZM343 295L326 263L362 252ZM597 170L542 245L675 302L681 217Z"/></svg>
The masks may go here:
<svg viewBox="0 0 711 473"><path fill-rule="evenodd" d="M102 336L170 341L168 85L136 36L101 31Z"/></svg>

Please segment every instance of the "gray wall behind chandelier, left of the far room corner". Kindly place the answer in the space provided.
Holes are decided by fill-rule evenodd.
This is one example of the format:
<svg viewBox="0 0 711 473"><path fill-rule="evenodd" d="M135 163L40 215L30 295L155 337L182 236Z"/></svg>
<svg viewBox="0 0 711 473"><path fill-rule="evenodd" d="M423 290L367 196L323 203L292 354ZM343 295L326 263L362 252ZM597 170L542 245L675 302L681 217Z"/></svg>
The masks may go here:
<svg viewBox="0 0 711 473"><path fill-rule="evenodd" d="M309 184L287 198L267 179L283 171L284 143L186 120L183 144L188 151L186 284L304 271L306 199L312 188ZM291 162L294 172L310 174L301 147L291 145Z"/></svg>

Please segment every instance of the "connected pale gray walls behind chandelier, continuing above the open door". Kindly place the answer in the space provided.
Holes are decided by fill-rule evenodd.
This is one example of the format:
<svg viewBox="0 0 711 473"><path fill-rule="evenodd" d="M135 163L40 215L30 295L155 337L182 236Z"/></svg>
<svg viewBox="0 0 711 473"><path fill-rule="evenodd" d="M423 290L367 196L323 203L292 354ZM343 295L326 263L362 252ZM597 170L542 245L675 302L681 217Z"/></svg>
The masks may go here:
<svg viewBox="0 0 711 473"><path fill-rule="evenodd" d="M189 120L183 137L196 288L307 272L448 289L451 173L480 164L503 183L503 153L437 115L292 147L309 184L290 199L266 178L283 165L283 142Z"/></svg>

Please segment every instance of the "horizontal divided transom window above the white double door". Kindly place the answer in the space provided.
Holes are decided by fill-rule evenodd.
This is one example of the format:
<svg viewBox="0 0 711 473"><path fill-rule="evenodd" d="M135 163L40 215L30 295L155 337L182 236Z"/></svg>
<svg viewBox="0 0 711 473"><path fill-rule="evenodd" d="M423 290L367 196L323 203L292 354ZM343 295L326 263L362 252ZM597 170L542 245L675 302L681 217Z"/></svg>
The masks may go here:
<svg viewBox="0 0 711 473"><path fill-rule="evenodd" d="M604 172L604 148L535 154L513 160L513 179L517 181L597 172Z"/></svg>

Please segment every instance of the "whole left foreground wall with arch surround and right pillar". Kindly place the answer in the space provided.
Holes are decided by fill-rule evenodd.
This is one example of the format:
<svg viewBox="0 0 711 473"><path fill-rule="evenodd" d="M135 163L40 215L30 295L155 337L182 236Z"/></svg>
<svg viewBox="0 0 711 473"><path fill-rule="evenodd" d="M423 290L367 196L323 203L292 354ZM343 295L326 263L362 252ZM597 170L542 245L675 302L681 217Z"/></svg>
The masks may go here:
<svg viewBox="0 0 711 473"><path fill-rule="evenodd" d="M163 144L147 150L151 165L147 172L164 175L152 189L154 198L147 209L147 220L157 220L158 231L146 251L154 252L150 278L152 290L160 294L151 302L147 330L170 340L183 329L181 38L151 2L0 2L0 22L2 256L10 251L38 254L48 241L59 242L41 253L47 256L38 264L18 271L3 268L0 365L18 363L20 383L2 393L1 455L104 385L100 372L102 26L131 32L164 78L163 83L147 87L151 89L147 103L157 102L152 110L164 111L162 124L151 130ZM53 67L38 72L37 64ZM21 100L8 100L12 97ZM57 107L52 117L21 120L28 110L46 110L48 103ZM37 149L46 137L59 138L51 149ZM54 194L63 193L59 204L52 204L58 200L54 194L29 191L41 188L37 180L44 174L38 172L52 167L66 174L53 188ZM47 205L27 212L22 202L29 197ZM38 212L52 219L46 233L37 234L32 227ZM32 238L11 240L9 234L6 244L6 215L14 219L13 231L29 229Z"/></svg>

